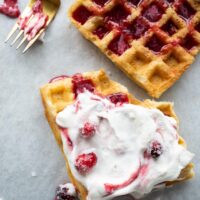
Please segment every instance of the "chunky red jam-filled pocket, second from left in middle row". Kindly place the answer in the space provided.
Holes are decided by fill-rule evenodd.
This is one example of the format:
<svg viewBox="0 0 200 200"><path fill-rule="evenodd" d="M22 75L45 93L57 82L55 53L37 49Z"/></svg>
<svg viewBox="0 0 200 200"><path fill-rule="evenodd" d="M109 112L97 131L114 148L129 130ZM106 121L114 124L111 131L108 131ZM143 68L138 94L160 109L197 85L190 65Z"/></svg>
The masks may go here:
<svg viewBox="0 0 200 200"><path fill-rule="evenodd" d="M148 29L150 25L143 17L136 18L128 27L126 32L134 38L140 38Z"/></svg>

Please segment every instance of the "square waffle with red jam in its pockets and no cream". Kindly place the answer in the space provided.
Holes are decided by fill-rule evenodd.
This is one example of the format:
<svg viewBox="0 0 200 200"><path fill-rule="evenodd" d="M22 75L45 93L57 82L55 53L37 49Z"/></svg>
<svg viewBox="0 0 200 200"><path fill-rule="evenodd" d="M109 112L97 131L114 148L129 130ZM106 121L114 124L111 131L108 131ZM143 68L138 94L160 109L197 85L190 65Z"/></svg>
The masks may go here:
<svg viewBox="0 0 200 200"><path fill-rule="evenodd" d="M200 48L195 0L76 0L69 17L155 98L180 78Z"/></svg>

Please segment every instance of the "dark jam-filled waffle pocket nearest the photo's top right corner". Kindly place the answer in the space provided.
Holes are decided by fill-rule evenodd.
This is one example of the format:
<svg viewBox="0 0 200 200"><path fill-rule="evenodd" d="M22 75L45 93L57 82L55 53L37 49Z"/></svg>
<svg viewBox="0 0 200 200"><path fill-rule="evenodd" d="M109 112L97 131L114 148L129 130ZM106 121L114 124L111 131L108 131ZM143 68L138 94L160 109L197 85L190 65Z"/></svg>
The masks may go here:
<svg viewBox="0 0 200 200"><path fill-rule="evenodd" d="M196 11L194 8L192 8L192 6L187 1L180 3L180 5L177 7L177 13L186 20L194 15L195 12Z"/></svg>

